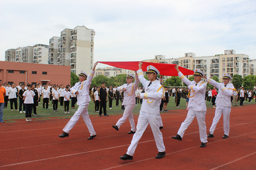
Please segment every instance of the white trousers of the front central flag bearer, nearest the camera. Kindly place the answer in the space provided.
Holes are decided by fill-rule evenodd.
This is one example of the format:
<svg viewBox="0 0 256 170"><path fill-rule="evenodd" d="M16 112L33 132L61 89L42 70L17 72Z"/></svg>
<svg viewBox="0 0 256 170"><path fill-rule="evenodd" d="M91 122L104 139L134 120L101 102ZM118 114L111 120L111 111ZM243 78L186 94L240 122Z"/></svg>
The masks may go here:
<svg viewBox="0 0 256 170"><path fill-rule="evenodd" d="M140 115L137 123L137 131L134 133L131 140L131 144L128 147L127 153L130 156L134 155L135 149L139 143L140 138L142 137L144 131L146 130L148 123L150 124L154 139L157 145L158 152L164 152L165 147L163 144L163 135L159 130L159 114L151 114L147 112L140 111Z"/></svg>

